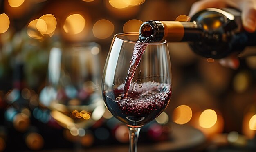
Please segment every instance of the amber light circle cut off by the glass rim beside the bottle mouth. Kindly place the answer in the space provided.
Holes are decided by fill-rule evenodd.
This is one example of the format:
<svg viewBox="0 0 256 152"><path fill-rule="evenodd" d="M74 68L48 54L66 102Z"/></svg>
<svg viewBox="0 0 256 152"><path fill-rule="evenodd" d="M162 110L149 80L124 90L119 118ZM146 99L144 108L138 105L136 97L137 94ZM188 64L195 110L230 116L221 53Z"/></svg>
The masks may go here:
<svg viewBox="0 0 256 152"><path fill-rule="evenodd" d="M143 22L141 20L129 20L123 26L124 32L139 32L139 28Z"/></svg>

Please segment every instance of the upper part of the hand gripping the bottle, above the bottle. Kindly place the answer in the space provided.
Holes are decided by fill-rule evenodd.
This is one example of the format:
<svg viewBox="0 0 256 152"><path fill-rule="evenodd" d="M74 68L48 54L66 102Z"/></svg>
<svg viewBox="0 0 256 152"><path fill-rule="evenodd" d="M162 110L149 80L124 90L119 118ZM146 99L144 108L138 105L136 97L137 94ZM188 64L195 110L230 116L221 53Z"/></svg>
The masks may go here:
<svg viewBox="0 0 256 152"><path fill-rule="evenodd" d="M208 7L239 9L243 28L248 32L254 32L256 29L256 0L199 0L191 6L189 16Z"/></svg>

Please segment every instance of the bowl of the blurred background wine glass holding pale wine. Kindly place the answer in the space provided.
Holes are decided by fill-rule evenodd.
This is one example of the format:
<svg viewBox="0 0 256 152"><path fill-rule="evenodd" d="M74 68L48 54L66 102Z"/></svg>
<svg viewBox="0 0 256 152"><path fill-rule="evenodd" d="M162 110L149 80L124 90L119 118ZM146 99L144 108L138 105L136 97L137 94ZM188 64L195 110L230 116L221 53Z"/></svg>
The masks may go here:
<svg viewBox="0 0 256 152"><path fill-rule="evenodd" d="M99 51L99 44L86 42L53 47L49 54L41 101L50 101L44 103L51 116L73 136L84 136L106 109L99 88Z"/></svg>

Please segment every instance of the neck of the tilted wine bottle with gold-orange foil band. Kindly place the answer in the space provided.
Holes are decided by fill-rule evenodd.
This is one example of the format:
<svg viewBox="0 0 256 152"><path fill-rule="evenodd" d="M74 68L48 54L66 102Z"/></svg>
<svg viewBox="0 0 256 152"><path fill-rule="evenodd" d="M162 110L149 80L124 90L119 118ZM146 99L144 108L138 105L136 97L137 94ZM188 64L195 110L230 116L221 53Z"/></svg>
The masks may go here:
<svg viewBox="0 0 256 152"><path fill-rule="evenodd" d="M151 42L165 39L167 42L196 41L202 31L195 22L147 21L140 27L140 39L150 38Z"/></svg>

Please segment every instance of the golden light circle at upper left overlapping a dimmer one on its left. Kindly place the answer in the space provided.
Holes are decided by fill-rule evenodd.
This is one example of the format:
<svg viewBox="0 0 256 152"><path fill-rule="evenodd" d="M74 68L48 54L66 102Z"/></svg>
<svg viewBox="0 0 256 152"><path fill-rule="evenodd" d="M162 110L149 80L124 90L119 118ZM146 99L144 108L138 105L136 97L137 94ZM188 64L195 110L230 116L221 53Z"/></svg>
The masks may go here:
<svg viewBox="0 0 256 152"><path fill-rule="evenodd" d="M42 34L51 34L54 32L57 26L57 21L54 15L46 14L39 18L36 24L36 28Z"/></svg>

